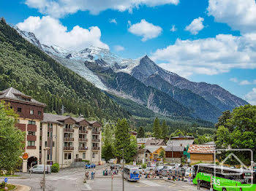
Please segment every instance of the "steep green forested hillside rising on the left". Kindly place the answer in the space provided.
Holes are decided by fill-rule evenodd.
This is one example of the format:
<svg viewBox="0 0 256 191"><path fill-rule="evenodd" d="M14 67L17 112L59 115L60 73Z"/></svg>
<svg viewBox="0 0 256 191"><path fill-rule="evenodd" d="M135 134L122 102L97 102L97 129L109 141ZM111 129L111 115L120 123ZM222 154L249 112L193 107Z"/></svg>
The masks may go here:
<svg viewBox="0 0 256 191"><path fill-rule="evenodd" d="M97 87L57 63L0 20L0 90L15 87L48 106L45 112L83 114L100 119L130 114Z"/></svg>

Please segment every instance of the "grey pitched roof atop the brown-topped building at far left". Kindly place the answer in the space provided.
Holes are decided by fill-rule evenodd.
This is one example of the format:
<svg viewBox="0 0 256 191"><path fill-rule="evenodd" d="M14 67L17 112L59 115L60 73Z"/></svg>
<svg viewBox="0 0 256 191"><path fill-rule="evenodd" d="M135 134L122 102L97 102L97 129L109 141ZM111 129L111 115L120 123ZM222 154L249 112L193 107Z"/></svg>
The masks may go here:
<svg viewBox="0 0 256 191"><path fill-rule="evenodd" d="M8 99L12 101L20 101L26 104L33 104L37 106L46 106L46 104L43 104L33 98L29 95L25 95L24 93L21 93L19 90L16 90L13 87L10 87L6 90L3 90L0 92L0 99Z"/></svg>

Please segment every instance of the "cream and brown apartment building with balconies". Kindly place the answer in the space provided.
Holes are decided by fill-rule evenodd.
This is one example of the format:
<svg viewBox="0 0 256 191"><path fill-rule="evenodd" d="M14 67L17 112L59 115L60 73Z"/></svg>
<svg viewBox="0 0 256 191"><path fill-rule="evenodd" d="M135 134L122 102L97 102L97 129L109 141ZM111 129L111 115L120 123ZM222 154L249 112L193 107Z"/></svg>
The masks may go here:
<svg viewBox="0 0 256 191"><path fill-rule="evenodd" d="M19 114L16 127L26 132L23 172L31 165L47 161L69 167L80 160L101 163L101 124L84 118L44 113L46 104L15 88L0 92L0 101L10 104ZM50 149L44 152L46 147Z"/></svg>

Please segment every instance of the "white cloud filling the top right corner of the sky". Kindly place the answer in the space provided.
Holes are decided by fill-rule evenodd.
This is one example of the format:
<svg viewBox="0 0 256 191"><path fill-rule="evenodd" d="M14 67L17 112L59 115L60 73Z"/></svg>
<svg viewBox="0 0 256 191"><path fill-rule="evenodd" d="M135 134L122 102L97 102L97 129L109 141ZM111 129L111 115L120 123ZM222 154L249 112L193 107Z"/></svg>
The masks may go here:
<svg viewBox="0 0 256 191"><path fill-rule="evenodd" d="M242 33L256 31L255 0L209 0L208 15Z"/></svg>

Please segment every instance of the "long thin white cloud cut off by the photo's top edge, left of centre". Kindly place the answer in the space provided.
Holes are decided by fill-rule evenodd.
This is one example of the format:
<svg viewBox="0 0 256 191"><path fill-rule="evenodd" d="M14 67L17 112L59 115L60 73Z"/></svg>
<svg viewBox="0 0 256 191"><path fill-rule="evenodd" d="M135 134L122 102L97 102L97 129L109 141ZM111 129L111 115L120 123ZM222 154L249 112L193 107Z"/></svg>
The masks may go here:
<svg viewBox="0 0 256 191"><path fill-rule="evenodd" d="M164 4L177 5L179 0L25 0L25 4L31 8L38 9L39 12L52 17L63 17L80 11L89 11L97 15L106 9L114 9L120 12L129 11L146 5L156 7Z"/></svg>

